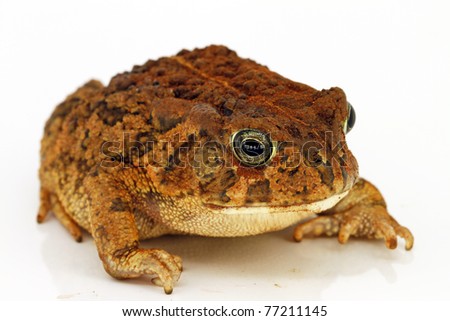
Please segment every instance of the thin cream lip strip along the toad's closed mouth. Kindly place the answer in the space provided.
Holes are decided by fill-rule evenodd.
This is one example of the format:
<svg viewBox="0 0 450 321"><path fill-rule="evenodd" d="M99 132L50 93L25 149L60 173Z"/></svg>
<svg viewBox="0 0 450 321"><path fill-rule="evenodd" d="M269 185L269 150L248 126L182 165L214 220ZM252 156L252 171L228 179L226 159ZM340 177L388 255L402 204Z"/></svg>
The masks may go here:
<svg viewBox="0 0 450 321"><path fill-rule="evenodd" d="M349 191L332 195L326 199L303 204L270 205L270 203L254 203L245 206L221 206L217 204L205 204L214 212L225 215L254 215L254 214L317 214L335 206L340 200L347 196Z"/></svg>

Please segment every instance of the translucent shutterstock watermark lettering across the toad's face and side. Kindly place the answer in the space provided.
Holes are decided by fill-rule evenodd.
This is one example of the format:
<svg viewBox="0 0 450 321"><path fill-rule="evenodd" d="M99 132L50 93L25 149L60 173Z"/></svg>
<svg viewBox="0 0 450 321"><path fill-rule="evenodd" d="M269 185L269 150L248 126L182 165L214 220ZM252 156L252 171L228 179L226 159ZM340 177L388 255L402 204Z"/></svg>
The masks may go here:
<svg viewBox="0 0 450 321"><path fill-rule="evenodd" d="M339 166L347 167L345 142L335 142L331 131L325 132L321 140L307 140L301 144L275 141L268 134L242 136L236 138L234 135L227 143L200 141L195 135L186 138L174 136L171 140L147 137L141 141L124 132L121 140L102 144L101 166L231 168L240 163L248 167L282 166L288 169L299 166L331 167L333 162L337 162Z"/></svg>

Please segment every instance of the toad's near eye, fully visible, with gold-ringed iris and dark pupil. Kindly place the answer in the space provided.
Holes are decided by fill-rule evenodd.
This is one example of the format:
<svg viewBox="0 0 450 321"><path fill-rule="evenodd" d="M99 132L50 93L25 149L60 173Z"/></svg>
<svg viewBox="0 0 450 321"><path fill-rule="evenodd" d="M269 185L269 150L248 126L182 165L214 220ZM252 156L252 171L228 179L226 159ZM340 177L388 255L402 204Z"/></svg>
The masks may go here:
<svg viewBox="0 0 450 321"><path fill-rule="evenodd" d="M276 153L269 135L256 129L241 129L231 135L234 156L245 166L267 164Z"/></svg>

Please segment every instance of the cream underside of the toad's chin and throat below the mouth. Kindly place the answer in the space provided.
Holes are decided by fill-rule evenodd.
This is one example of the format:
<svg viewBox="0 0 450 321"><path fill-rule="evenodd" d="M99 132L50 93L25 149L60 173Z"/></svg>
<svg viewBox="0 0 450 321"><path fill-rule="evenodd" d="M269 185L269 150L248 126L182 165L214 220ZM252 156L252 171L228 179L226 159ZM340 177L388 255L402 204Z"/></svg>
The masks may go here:
<svg viewBox="0 0 450 321"><path fill-rule="evenodd" d="M301 220L321 213L343 199L347 192L331 196L310 204L292 206L248 206L230 207L202 211L183 221L180 225L172 221L172 228L181 233L204 236L245 236L277 231ZM175 224L173 224L175 223Z"/></svg>

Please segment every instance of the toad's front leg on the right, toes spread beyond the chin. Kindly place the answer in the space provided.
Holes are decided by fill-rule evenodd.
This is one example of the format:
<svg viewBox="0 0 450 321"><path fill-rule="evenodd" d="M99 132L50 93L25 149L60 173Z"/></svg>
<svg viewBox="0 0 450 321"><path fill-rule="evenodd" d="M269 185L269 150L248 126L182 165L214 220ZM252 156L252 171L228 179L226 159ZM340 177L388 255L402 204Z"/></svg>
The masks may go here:
<svg viewBox="0 0 450 321"><path fill-rule="evenodd" d="M294 231L296 241L320 235L338 235L342 244L350 236L384 239L389 249L397 247L397 236L405 239L406 250L414 244L411 232L387 212L386 202L378 189L362 178L342 201L318 217L298 225Z"/></svg>

